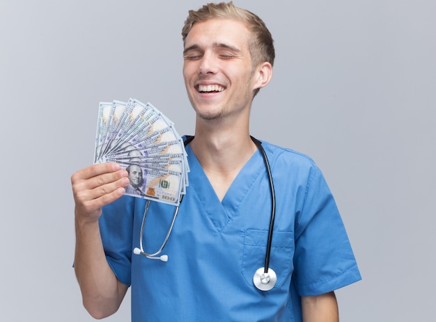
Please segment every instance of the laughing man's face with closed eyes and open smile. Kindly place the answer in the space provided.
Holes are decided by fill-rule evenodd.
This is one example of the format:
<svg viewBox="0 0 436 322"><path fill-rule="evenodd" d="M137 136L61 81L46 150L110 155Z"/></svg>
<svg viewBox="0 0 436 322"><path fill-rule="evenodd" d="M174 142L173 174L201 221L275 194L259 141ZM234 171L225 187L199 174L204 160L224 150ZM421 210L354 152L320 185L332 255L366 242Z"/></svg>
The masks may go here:
<svg viewBox="0 0 436 322"><path fill-rule="evenodd" d="M250 32L233 19L192 26L185 40L183 77L189 100L204 120L249 113L253 90Z"/></svg>

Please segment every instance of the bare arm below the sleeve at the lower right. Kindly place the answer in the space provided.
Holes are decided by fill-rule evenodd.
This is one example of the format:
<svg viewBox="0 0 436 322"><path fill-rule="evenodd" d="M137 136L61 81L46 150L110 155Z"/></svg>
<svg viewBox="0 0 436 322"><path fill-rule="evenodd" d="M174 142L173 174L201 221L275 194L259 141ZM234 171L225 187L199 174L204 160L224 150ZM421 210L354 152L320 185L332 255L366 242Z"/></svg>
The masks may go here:
<svg viewBox="0 0 436 322"><path fill-rule="evenodd" d="M334 292L302 297L304 322L338 322L338 303Z"/></svg>

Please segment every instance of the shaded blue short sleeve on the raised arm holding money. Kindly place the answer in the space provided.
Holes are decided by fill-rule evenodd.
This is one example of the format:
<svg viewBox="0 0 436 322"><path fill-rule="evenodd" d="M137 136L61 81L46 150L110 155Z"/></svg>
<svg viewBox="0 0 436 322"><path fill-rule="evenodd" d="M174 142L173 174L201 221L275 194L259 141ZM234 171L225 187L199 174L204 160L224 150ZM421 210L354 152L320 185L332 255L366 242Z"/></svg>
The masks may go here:
<svg viewBox="0 0 436 322"><path fill-rule="evenodd" d="M103 207L100 234L104 253L120 282L130 285L134 198L123 196Z"/></svg>

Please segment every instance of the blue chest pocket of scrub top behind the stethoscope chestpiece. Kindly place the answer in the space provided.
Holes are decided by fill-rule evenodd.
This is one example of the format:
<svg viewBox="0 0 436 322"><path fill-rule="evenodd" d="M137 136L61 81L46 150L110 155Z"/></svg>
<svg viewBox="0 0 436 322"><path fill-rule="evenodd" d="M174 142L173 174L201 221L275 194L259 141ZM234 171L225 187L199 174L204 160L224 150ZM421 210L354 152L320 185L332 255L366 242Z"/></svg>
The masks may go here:
<svg viewBox="0 0 436 322"><path fill-rule="evenodd" d="M242 275L247 283L254 287L253 275L265 265L267 250L267 230L245 230L244 253L242 255ZM292 232L273 232L270 252L270 268L277 274L277 284L283 282L293 272L294 239Z"/></svg>

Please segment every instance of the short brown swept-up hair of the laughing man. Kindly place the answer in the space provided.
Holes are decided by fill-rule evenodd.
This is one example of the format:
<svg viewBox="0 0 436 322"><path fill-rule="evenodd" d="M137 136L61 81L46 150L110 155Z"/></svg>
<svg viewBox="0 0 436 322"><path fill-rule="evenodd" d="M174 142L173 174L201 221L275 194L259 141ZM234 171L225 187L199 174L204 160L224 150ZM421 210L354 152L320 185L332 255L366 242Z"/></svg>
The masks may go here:
<svg viewBox="0 0 436 322"><path fill-rule="evenodd" d="M196 22L205 22L208 19L228 18L244 22L249 31L254 35L249 42L251 62L253 67L267 61L274 65L275 51L274 40L265 23L249 10L235 7L233 2L208 3L198 10L189 10L189 15L182 29L183 43L189 31Z"/></svg>

